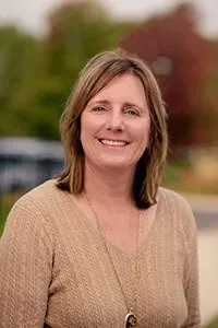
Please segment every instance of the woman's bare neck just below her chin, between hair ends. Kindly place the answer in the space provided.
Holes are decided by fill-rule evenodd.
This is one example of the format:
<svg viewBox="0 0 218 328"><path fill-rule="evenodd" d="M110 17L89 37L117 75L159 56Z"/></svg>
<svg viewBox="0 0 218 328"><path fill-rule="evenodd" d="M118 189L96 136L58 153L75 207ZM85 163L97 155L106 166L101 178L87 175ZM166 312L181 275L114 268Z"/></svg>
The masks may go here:
<svg viewBox="0 0 218 328"><path fill-rule="evenodd" d="M116 209L133 203L134 168L104 169L85 162L85 190L98 203Z"/></svg>

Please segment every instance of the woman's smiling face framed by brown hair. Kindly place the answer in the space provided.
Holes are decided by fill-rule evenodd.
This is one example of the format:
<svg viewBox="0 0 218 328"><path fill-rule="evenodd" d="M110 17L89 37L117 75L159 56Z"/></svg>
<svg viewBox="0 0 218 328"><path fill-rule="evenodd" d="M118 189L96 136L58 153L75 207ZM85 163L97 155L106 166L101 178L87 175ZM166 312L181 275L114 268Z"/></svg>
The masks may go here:
<svg viewBox="0 0 218 328"><path fill-rule="evenodd" d="M134 74L116 77L87 104L81 118L86 162L101 168L135 167L148 145L150 117Z"/></svg>

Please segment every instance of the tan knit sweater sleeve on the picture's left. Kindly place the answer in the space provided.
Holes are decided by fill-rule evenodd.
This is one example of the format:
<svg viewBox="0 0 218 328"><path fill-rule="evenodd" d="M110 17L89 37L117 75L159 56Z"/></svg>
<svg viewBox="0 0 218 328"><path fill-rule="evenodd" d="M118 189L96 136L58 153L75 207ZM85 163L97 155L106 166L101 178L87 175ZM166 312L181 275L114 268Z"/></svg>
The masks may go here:
<svg viewBox="0 0 218 328"><path fill-rule="evenodd" d="M0 328L44 326L52 244L41 218L35 206L21 199L7 220L0 239Z"/></svg>

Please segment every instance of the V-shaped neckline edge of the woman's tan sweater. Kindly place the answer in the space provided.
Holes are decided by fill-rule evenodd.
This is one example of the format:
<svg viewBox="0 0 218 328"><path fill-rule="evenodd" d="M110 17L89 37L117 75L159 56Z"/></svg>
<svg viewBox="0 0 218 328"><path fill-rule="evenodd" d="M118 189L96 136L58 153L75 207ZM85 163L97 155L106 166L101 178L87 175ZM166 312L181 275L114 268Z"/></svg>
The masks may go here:
<svg viewBox="0 0 218 328"><path fill-rule="evenodd" d="M88 227L92 230L92 232L102 242L102 235L101 233L99 232L98 227L97 227L97 224L95 223L95 221L90 220L85 213L84 211L76 204L75 200L73 199L73 197L71 197L71 194L69 194L70 196L70 201L71 203L73 203L73 208L74 210L77 212L80 219L83 220L83 222L86 224L86 226L88 225ZM156 230L156 226L157 226L157 223L159 221L159 216L160 216L160 203L162 201L162 194L161 194L161 190L158 189L158 200L157 200L157 208L156 208L156 213L155 213L155 218L153 220L153 223L147 232L147 234L142 238L141 243L140 243L140 248L138 248L138 251L141 253L144 248L147 249L147 246L148 246L148 243L149 241L152 239L154 233L155 233L155 230ZM105 234L104 234L104 237L106 239L106 243L108 245L108 247L110 249L112 249L114 253L121 255L122 257L125 257L128 259L132 259L132 258L135 258L135 255L136 255L136 249L134 248L133 250L131 251L125 251L123 248L119 247L118 245L113 244L112 241L110 241L110 238L108 238Z"/></svg>

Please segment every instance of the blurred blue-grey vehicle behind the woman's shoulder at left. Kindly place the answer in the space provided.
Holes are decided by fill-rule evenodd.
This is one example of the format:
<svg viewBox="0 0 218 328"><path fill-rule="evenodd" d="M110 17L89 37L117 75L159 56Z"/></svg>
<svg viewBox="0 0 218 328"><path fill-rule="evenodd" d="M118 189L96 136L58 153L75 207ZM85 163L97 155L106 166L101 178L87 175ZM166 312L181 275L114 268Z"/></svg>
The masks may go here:
<svg viewBox="0 0 218 328"><path fill-rule="evenodd" d="M35 138L0 139L0 194L28 190L62 171L59 142Z"/></svg>

